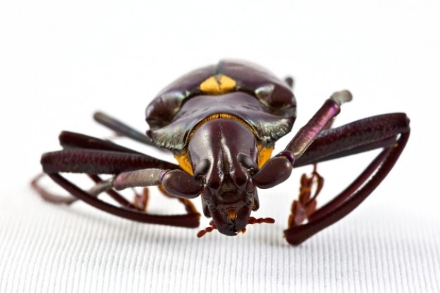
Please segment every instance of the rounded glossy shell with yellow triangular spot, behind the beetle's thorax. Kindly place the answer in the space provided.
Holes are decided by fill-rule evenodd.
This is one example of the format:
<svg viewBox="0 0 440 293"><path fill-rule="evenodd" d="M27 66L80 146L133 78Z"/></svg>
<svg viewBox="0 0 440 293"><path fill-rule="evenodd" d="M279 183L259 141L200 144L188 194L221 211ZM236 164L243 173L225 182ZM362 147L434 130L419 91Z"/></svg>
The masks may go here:
<svg viewBox="0 0 440 293"><path fill-rule="evenodd" d="M221 61L177 79L146 109L148 136L161 148L186 148L194 127L206 117L228 114L247 122L264 145L292 129L296 101L290 88L257 65Z"/></svg>

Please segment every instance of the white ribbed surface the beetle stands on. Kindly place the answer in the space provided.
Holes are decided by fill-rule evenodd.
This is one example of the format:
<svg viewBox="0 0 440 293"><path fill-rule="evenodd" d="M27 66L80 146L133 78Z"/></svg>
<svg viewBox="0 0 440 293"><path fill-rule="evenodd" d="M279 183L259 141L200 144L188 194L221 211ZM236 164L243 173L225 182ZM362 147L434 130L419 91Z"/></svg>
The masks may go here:
<svg viewBox="0 0 440 293"><path fill-rule="evenodd" d="M22 189L21 189L22 190ZM22 193L27 193L22 190ZM361 209L300 247L283 225L245 236L150 227L27 198L1 213L0 292L439 292L438 219ZM370 206L370 209L372 207Z"/></svg>

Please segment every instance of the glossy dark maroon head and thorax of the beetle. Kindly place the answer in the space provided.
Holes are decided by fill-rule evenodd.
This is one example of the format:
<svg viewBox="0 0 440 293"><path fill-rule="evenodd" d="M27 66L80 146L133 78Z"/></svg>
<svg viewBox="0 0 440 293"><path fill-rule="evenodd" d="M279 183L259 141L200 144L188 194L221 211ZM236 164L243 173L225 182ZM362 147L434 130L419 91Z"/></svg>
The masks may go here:
<svg viewBox="0 0 440 293"><path fill-rule="evenodd" d="M258 208L252 167L257 166L257 141L249 126L235 119L212 119L198 127L188 144L194 176L203 184L205 216L212 216L217 228L235 235L245 228L252 210Z"/></svg>

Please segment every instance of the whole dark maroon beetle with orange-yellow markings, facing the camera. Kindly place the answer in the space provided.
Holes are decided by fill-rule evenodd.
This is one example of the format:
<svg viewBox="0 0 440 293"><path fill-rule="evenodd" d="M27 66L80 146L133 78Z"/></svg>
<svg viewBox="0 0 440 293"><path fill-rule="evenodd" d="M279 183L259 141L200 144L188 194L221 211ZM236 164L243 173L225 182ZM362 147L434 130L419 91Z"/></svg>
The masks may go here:
<svg viewBox="0 0 440 293"><path fill-rule="evenodd" d="M252 223L273 219L250 216L259 208L257 188L272 188L290 177L292 169L313 164L311 176L301 179L299 197L292 203L287 242L299 245L315 233L349 214L387 176L401 155L410 134L404 113L361 119L336 128L332 121L349 91L338 91L287 144L272 156L276 141L288 134L296 118L292 79L278 79L251 63L222 60L194 70L163 89L146 108L146 135L97 112L94 119L136 141L172 152L172 164L141 152L83 134L63 131L63 150L41 157L44 174L73 197L49 193L32 186L44 200L71 204L83 200L98 209L126 219L170 226L199 226L200 214L190 199L202 199L210 226L199 237L216 229L224 235L244 232ZM333 200L317 208L316 197L323 178L318 162L382 148L365 170ZM61 173L87 174L96 185L84 190ZM102 174L111 174L103 179ZM165 195L176 197L186 214L157 215L146 212L147 186L157 185ZM118 191L144 187L130 202ZM98 198L108 193L118 205Z"/></svg>

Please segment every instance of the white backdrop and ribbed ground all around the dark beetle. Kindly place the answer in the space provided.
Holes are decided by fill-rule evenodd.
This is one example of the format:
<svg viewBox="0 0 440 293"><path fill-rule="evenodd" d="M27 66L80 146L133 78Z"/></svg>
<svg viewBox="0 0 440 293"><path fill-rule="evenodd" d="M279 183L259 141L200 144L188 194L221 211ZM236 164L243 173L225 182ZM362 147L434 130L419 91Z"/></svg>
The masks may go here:
<svg viewBox="0 0 440 293"><path fill-rule="evenodd" d="M1 1L0 292L439 292L440 6L382 2ZM310 168L262 191L257 216L276 223L238 237L199 240L197 229L56 207L32 192L61 130L111 136L91 120L104 110L144 131L162 87L221 58L295 77L295 130L340 89L354 100L337 125L406 112L406 150L361 207L299 247L282 231ZM323 193L371 156L322 164ZM160 195L151 204L182 211Z"/></svg>

